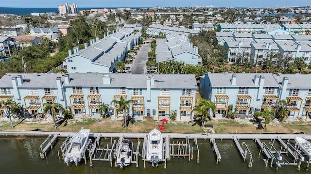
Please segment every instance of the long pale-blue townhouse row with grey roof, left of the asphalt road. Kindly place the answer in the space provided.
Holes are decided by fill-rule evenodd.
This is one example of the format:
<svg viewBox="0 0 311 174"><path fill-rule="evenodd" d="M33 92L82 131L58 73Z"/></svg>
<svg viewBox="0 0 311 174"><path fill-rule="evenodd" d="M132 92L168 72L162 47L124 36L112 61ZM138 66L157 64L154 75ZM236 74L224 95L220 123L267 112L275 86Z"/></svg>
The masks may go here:
<svg viewBox="0 0 311 174"><path fill-rule="evenodd" d="M73 51L68 50L69 56L63 62L64 68L69 73L96 72L109 73L115 72L115 65L119 61L124 61L127 51L138 44L141 33L133 34L134 29L120 30L104 34L104 38L90 40L84 44L84 49L74 47Z"/></svg>

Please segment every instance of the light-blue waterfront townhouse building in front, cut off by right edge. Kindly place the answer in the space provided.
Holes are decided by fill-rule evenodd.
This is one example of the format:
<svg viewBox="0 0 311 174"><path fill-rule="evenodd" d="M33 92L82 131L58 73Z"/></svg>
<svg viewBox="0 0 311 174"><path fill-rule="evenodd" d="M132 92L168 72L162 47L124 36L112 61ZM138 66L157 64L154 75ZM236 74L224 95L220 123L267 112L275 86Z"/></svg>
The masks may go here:
<svg viewBox="0 0 311 174"><path fill-rule="evenodd" d="M264 108L275 109L280 100L288 101L289 118L311 116L311 75L207 73L200 78L199 89L216 105L216 118L226 117L229 105L239 117L250 117Z"/></svg>

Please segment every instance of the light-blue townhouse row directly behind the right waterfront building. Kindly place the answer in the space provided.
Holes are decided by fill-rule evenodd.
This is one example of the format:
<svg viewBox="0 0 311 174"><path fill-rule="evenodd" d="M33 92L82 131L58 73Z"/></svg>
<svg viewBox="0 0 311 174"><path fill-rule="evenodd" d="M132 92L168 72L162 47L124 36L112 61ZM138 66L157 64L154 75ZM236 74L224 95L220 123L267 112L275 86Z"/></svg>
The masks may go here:
<svg viewBox="0 0 311 174"><path fill-rule="evenodd" d="M307 64L311 61L311 35L216 32L216 38L220 45L228 48L230 63L248 59L262 65L268 57L274 57L274 62L277 59L294 61L296 57L303 58ZM277 54L279 56L275 56Z"/></svg>

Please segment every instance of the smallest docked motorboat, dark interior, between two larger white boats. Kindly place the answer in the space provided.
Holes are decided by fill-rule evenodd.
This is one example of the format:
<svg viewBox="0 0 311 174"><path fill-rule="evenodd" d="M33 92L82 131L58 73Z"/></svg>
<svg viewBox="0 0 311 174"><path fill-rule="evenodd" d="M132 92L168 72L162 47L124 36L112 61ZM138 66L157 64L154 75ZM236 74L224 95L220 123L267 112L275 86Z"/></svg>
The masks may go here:
<svg viewBox="0 0 311 174"><path fill-rule="evenodd" d="M116 148L116 160L121 169L131 164L132 154L133 143L127 139L122 140Z"/></svg>

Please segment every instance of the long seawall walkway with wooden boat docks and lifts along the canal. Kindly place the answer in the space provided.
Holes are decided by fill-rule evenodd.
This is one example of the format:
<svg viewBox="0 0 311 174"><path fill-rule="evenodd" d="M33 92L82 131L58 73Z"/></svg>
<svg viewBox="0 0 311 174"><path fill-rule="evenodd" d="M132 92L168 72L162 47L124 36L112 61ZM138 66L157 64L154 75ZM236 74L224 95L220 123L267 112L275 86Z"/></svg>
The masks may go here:
<svg viewBox="0 0 311 174"><path fill-rule="evenodd" d="M57 137L67 137L65 142L62 144L62 149L68 143L68 139L72 132L42 132L42 131L21 131L21 132L9 132L9 131L2 131L0 135L48 135L49 137L45 140L40 146L40 152L42 152L46 158L46 152L48 149L52 149L52 142L55 142ZM54 135L52 137L52 135ZM138 157L139 151L141 152L142 160L145 160L146 155L146 133L90 133L89 137L94 138L95 141L90 143L91 145L88 146L89 149L89 159L92 165L92 161L110 161L111 166L113 162L113 153L114 149L117 146L117 141L112 141L113 138L134 138L138 139L139 142L135 152L134 158L132 162L136 163L138 166ZM175 134L175 133L162 133L162 137L164 139L163 145L163 156L165 156L164 160L164 167L166 168L167 161L171 160L171 158L189 158L190 160L193 159L193 155L196 155L197 162L199 162L199 145L197 140L207 140L209 139L212 149L216 156L216 163L220 162L221 151L219 151L216 140L233 140L235 143L237 150L239 151L243 160L249 158L248 166L251 167L253 164L252 158L253 155L250 153L247 145L245 142L242 144L239 140L254 140L260 149L259 155L263 154L263 161L265 166L270 164L270 167L279 168L283 165L295 165L297 170L300 170L301 163L307 163L306 170L309 168L309 164L311 163L311 155L304 153L299 147L296 147L293 144L295 137L301 137L306 140L311 140L311 135L304 135L304 134ZM100 140L102 139L111 139L110 143L104 145L104 147L100 147ZM143 144L141 145L140 140L143 139ZM190 143L190 140L194 144ZM261 140L266 140L261 142ZM270 141L270 142L267 142ZM67 143L66 143L67 142ZM278 143L277 145L275 143ZM44 145L46 144L46 145ZM141 146L141 147L140 147ZM142 148L139 150L139 148ZM65 148L66 149L66 148ZM63 152L63 151L62 151ZM64 153L64 152L63 152ZM287 157L289 155L289 157ZM248 160L247 160L248 161ZM275 165L273 165L275 164ZM145 161L144 161L145 167Z"/></svg>

